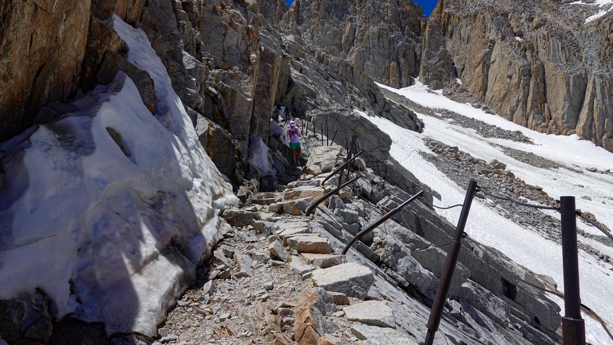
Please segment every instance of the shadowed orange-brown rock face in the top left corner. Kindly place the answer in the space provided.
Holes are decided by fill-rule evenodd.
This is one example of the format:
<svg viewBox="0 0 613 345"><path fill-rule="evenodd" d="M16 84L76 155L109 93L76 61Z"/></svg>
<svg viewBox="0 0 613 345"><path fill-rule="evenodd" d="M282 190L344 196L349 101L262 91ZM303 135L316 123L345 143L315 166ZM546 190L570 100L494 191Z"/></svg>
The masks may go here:
<svg viewBox="0 0 613 345"><path fill-rule="evenodd" d="M0 9L0 142L4 142L32 125L40 105L77 91L89 1L2 1Z"/></svg>

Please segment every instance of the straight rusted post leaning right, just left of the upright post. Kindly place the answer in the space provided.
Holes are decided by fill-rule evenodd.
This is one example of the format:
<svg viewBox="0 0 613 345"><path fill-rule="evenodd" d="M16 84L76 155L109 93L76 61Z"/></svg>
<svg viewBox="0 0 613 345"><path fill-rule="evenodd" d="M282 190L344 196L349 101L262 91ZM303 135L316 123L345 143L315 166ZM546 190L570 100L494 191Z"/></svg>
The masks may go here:
<svg viewBox="0 0 613 345"><path fill-rule="evenodd" d="M449 286L451 285L451 278L454 275L455 264L458 261L460 255L460 249L462 249L462 234L464 233L464 227L466 226L466 219L468 219L468 212L470 212L470 205L473 203L474 193L477 189L477 181L470 180L468 183L468 189L466 190L466 196L464 197L464 204L462 206L462 212L460 213L460 219L458 219L458 225L455 227L455 236L451 240L449 249L447 251L447 258L443 263L443 271L441 272L441 279L438 280L438 288L436 289L436 295L434 297L434 303L432 309L430 309L430 318L428 319L428 333L425 336L424 345L432 345L434 341L434 335L438 330L438 326L441 324L441 316L443 316L443 308L445 307L445 301L447 300L447 294L449 293Z"/></svg>

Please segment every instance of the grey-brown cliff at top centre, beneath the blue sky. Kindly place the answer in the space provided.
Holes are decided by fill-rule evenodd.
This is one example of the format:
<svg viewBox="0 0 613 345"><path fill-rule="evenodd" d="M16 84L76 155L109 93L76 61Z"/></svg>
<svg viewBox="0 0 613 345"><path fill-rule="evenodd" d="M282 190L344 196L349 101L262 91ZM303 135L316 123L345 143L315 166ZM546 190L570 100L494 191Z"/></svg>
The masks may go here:
<svg viewBox="0 0 613 345"><path fill-rule="evenodd" d="M376 82L411 85L425 16L413 1L295 1L281 27L355 64Z"/></svg>

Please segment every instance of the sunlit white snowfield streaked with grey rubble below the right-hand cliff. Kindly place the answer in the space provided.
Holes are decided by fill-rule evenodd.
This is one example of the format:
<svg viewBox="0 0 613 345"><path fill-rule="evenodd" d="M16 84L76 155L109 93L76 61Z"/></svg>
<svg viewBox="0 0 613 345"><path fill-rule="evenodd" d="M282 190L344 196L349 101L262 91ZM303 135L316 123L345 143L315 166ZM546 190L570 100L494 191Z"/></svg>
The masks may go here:
<svg viewBox="0 0 613 345"><path fill-rule="evenodd" d="M566 137L531 131L518 124L506 121L500 116L490 115L481 109L473 108L469 104L460 104L438 93L432 93L419 82L414 86L399 90L380 84L379 86L405 96L424 107L444 108L502 129L521 131L536 144L530 145L493 137L484 138L477 134L474 129L464 128L459 124L418 113L417 116L425 123L424 133L419 134L403 129L387 119L367 116L362 113L379 129L390 135L393 140L390 154L420 181L442 195L440 201L434 200L435 205L447 206L462 203L465 191L436 169L435 165L422 157L423 153L434 154L424 145L422 140L424 137L434 138L446 145L458 146L461 151L468 152L473 157L485 161L497 159L506 164L507 169L511 170L516 177L533 186L543 187L543 191L555 199L559 199L561 195L576 197L577 208L593 213L598 221L609 227L613 226L613 176L585 170L587 167L613 170L613 153L595 146L587 140L579 140L577 135ZM558 162L561 166L581 170L582 173L565 168L544 169L525 164L510 156L505 156L503 151L498 150L490 143L535 153L538 156ZM590 196L592 200L581 199L584 195ZM545 211L560 219L557 212ZM460 208L436 209L436 212L456 224ZM587 233L603 235L594 227L588 227L581 221L577 221L577 226ZM558 290L563 291L562 247L554 241L546 240L535 231L520 226L511 219L504 218L479 199L475 199L473 202L468 224L466 224L466 232L481 243L498 249L515 262L535 273L552 276L558 282ZM587 243L595 242L584 237L579 240ZM598 248L613 256L613 248L604 245ZM611 268L613 267L609 263L599 262L584 251L579 251L582 303L595 310L609 325L613 325L613 289L611 288L613 286L613 271L610 270ZM560 304L563 313L563 300L554 295L551 295L551 298ZM596 320L585 316L585 314L584 319L589 343L613 345L613 341L606 335Z"/></svg>

